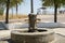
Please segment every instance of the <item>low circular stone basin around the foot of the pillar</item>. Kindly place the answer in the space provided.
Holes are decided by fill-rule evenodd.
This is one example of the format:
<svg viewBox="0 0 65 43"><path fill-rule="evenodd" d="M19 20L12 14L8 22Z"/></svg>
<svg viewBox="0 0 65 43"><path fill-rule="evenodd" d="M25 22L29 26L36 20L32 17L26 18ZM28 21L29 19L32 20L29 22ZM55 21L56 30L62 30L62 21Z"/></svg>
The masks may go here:
<svg viewBox="0 0 65 43"><path fill-rule="evenodd" d="M14 43L49 43L54 40L53 30L39 30L40 32L27 32L25 30L13 30L11 39Z"/></svg>

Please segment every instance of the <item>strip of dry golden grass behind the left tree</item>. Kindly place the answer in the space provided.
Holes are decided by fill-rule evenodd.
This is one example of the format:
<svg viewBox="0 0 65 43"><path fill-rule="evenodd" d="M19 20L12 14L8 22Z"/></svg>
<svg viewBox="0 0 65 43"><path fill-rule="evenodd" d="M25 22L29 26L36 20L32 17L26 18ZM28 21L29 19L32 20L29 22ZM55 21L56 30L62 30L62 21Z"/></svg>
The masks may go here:
<svg viewBox="0 0 65 43"><path fill-rule="evenodd" d="M22 19L27 18L28 15L9 15L9 19ZM0 15L0 20L5 19L5 15Z"/></svg>

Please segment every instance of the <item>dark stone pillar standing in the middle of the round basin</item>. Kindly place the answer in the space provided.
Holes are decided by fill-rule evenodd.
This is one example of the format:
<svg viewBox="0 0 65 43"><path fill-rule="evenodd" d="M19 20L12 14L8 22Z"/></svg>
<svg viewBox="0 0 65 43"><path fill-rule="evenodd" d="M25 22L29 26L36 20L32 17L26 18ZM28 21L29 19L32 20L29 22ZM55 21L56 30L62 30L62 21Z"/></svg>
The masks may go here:
<svg viewBox="0 0 65 43"><path fill-rule="evenodd" d="M35 31L36 30L36 19L37 19L37 15L35 14L29 14L28 15L29 18L29 31Z"/></svg>

